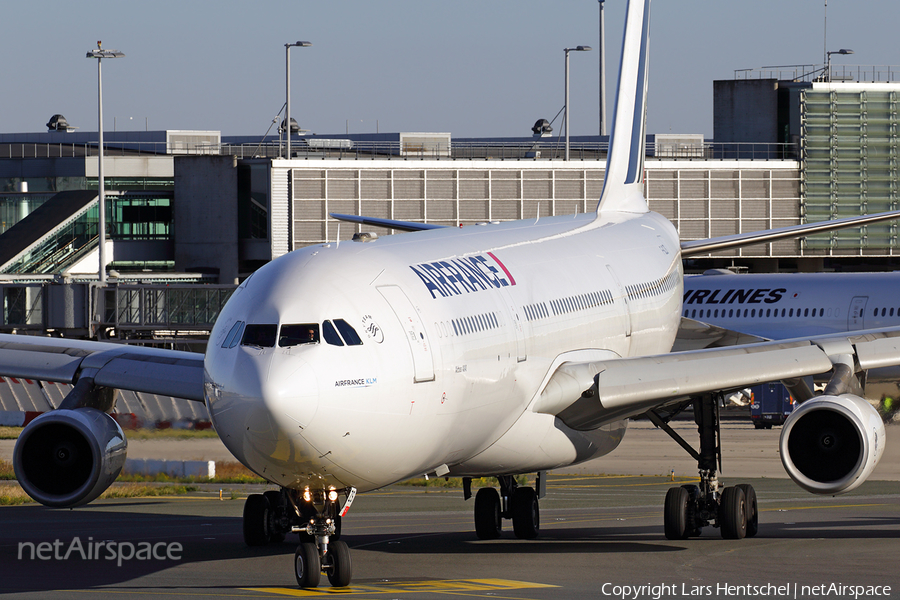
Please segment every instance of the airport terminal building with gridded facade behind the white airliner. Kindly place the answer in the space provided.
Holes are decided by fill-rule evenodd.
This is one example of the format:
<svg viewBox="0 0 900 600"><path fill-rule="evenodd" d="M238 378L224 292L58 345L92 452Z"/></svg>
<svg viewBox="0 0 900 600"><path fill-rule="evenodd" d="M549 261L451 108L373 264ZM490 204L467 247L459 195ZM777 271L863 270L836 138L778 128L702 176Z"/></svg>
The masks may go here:
<svg viewBox="0 0 900 600"><path fill-rule="evenodd" d="M893 71L858 75L741 72L715 82L712 140L648 136L651 209L692 240L900 208L900 83ZM361 230L393 233L329 213L477 227L591 211L608 148L578 136L564 160L563 140L538 134L308 135L290 149L217 131L105 137L101 286L97 134L0 134L0 330L202 351L238 281L261 265L304 246L364 243L353 240ZM891 223L718 252L686 268L883 270L898 253ZM0 381L0 414L42 410L51 394L28 385ZM145 422L204 418L178 403L158 409L172 399L122 400Z"/></svg>

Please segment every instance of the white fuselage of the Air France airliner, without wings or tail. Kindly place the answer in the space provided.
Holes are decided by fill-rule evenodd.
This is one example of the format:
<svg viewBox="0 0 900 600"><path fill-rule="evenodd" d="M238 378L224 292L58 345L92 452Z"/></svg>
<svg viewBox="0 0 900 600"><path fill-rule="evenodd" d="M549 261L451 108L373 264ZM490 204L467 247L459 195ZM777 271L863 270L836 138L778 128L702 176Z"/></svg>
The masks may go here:
<svg viewBox="0 0 900 600"><path fill-rule="evenodd" d="M668 352L682 271L663 217L595 219L438 229L271 262L210 336L207 405L223 442L279 485L360 491L611 451L624 423L574 431L529 406L566 360ZM326 321L338 320L362 343L329 343ZM244 323L277 326L278 341L240 343ZM297 324L320 327L317 341L280 345Z"/></svg>

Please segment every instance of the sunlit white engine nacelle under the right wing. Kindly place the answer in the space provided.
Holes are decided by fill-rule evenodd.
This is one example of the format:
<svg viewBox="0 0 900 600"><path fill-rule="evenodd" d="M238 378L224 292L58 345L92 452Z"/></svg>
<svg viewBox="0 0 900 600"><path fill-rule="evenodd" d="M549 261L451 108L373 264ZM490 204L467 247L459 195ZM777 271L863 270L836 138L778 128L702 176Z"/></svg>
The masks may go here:
<svg viewBox="0 0 900 600"><path fill-rule="evenodd" d="M797 485L814 494L841 494L859 486L884 453L884 423L858 396L820 396L784 422L781 462Z"/></svg>

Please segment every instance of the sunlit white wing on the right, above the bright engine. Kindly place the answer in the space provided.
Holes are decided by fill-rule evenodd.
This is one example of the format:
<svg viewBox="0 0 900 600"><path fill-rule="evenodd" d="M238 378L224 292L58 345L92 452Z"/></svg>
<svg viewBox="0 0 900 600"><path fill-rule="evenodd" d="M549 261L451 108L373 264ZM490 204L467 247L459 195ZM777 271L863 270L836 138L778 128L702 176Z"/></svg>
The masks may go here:
<svg viewBox="0 0 900 600"><path fill-rule="evenodd" d="M847 357L859 370L900 363L900 328L567 362L548 379L532 410L556 415L573 429L594 429L692 396L819 375Z"/></svg>

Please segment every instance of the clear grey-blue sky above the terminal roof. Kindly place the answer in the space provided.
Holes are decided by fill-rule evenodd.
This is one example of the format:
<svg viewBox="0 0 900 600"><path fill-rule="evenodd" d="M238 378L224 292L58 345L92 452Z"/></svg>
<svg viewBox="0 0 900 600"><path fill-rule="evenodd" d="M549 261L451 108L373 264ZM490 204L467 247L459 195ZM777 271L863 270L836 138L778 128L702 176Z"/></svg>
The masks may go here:
<svg viewBox="0 0 900 600"><path fill-rule="evenodd" d="M897 0L830 0L835 64L900 65ZM606 1L612 95L624 0ZM292 116L319 134L448 131L530 135L563 104L571 56L572 135L598 132L597 0L332 0L0 5L0 132L44 131L54 113L96 130L97 40L105 127L213 129L262 135L284 102L291 51ZM821 63L824 0L654 0L648 131L712 128L712 82L735 69ZM559 125L557 122L555 125ZM558 131L559 129L557 129Z"/></svg>

